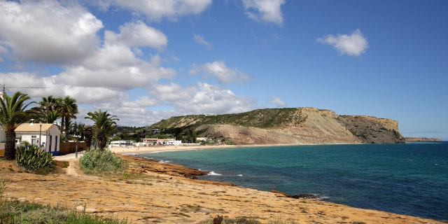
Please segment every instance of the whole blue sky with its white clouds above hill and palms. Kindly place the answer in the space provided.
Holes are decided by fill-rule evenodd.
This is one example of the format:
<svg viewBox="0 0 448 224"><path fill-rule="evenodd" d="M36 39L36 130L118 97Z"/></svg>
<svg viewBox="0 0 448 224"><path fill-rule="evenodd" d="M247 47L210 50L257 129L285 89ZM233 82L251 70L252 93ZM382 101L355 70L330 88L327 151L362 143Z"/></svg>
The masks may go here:
<svg viewBox="0 0 448 224"><path fill-rule="evenodd" d="M0 0L0 84L143 127L314 107L448 141L445 0Z"/></svg>

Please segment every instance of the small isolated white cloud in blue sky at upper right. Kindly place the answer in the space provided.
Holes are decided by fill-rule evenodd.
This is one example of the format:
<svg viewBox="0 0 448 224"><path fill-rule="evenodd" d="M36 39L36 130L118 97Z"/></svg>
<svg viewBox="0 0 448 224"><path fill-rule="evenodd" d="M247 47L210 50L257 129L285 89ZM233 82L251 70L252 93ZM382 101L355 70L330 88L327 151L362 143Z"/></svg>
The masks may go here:
<svg viewBox="0 0 448 224"><path fill-rule="evenodd" d="M323 38L317 38L319 43L332 45L341 54L349 56L360 56L369 48L369 43L359 29L353 31L350 35L337 34L327 35Z"/></svg>

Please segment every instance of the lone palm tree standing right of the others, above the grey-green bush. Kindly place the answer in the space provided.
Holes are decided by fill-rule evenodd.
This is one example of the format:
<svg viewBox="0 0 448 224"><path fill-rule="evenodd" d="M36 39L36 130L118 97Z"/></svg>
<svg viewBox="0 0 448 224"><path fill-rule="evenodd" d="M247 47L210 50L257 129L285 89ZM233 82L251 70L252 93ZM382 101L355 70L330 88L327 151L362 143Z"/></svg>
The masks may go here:
<svg viewBox="0 0 448 224"><path fill-rule="evenodd" d="M94 137L98 141L99 150L103 151L104 147L106 147L107 137L109 137L117 127L115 121L119 119L117 116L111 116L107 111L101 111L101 109L99 109L99 111L94 111L94 113L87 113L85 119L94 121Z"/></svg>

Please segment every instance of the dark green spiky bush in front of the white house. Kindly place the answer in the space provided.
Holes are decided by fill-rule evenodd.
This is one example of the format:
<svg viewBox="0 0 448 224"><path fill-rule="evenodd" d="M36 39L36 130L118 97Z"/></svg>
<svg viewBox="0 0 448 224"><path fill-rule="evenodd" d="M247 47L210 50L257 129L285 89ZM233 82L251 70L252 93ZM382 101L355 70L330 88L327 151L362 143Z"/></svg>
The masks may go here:
<svg viewBox="0 0 448 224"><path fill-rule="evenodd" d="M43 151L39 146L19 146L15 157L17 165L29 171L53 169L53 155Z"/></svg>

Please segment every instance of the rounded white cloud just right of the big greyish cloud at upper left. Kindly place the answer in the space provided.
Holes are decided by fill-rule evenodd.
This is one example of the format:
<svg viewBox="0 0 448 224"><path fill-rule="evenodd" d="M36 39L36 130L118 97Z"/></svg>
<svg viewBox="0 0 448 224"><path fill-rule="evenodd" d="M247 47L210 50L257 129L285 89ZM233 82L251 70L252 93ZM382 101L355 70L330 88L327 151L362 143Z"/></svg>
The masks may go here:
<svg viewBox="0 0 448 224"><path fill-rule="evenodd" d="M104 41L107 45L125 45L129 48L150 46L161 50L167 45L168 38L161 31L137 21L120 26L120 34L105 31Z"/></svg>

